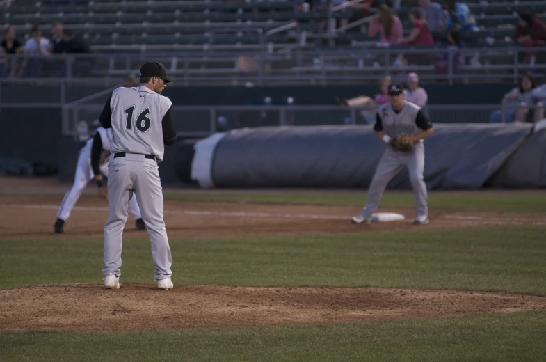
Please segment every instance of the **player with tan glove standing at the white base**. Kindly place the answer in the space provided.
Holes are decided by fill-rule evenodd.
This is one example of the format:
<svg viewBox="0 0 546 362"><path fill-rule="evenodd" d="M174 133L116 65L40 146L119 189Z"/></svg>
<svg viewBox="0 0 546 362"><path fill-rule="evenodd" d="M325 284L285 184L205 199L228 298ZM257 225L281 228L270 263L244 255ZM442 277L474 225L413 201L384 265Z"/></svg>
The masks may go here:
<svg viewBox="0 0 546 362"><path fill-rule="evenodd" d="M374 178L368 189L366 205L352 223L371 223L371 216L379 205L383 191L392 178L406 167L417 200L415 225L428 223L426 184L423 178L425 149L423 140L434 130L421 107L404 100L403 86L391 84L390 102L379 107L376 113L374 136L388 147L379 160Z"/></svg>

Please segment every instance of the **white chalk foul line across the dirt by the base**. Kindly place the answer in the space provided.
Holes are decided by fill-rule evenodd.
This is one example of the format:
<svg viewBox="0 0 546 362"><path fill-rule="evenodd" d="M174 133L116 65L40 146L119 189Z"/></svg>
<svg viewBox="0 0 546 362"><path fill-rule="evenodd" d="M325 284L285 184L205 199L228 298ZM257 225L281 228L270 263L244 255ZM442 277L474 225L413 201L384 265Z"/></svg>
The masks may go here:
<svg viewBox="0 0 546 362"><path fill-rule="evenodd" d="M0 204L0 208L13 209L44 209L58 210L57 205L17 205ZM108 211L108 207L76 206L73 210L81 211ZM226 212L226 211L197 211L197 210L165 210L165 214L202 215L220 217L272 217L282 219L326 219L326 220L347 220L348 217L339 215L316 215L316 214L273 214L269 212ZM524 219L524 218L499 218L499 217L473 217L444 215L442 223L461 223L467 225L546 225L545 219ZM448 219L448 220L445 220ZM451 219L451 220L449 220Z"/></svg>

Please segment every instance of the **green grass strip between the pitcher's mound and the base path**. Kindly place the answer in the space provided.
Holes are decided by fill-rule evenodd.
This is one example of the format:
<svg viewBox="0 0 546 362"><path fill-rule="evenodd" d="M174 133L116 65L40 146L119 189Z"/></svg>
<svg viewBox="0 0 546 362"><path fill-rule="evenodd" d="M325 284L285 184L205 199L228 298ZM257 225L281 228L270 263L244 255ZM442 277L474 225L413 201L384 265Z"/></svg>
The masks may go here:
<svg viewBox="0 0 546 362"><path fill-rule="evenodd" d="M171 239L175 284L495 290L546 295L545 228ZM0 288L101 282L102 239L0 240ZM122 281L153 282L150 242L127 239Z"/></svg>

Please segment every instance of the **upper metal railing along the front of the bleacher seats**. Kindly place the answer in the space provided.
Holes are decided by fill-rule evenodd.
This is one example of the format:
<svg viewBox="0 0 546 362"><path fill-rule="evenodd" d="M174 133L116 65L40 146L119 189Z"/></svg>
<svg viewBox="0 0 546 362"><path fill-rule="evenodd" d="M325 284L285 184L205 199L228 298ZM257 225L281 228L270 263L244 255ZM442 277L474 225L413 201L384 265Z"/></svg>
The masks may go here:
<svg viewBox="0 0 546 362"><path fill-rule="evenodd" d="M291 27L287 24L282 30ZM279 30L280 31L280 30ZM266 36L264 34L264 36ZM458 53L460 53L458 55ZM456 56L464 63L456 63ZM437 49L351 48L342 51L286 49L286 52L163 52L18 56L0 63L0 82L34 83L54 79L71 84L115 84L127 72L154 58L177 77L175 86L233 84L343 84L376 81L383 75L419 73L423 80L514 81L523 72L546 69L546 49L528 47ZM250 61L250 66L239 61ZM1 59L1 58L0 58ZM406 62L406 63L404 63Z"/></svg>

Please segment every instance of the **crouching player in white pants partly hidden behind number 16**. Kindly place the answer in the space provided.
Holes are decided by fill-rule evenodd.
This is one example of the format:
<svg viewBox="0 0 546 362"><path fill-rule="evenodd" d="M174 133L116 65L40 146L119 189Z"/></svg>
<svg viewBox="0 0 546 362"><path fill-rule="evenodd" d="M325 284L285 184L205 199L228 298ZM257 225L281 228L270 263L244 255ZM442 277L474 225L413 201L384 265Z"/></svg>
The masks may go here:
<svg viewBox="0 0 546 362"><path fill-rule="evenodd" d="M74 175L74 184L68 190L61 203L57 213L57 221L54 225L55 233L65 232L65 221L70 217L70 212L76 205L81 191L86 188L90 180L97 182L100 198L106 198L106 188L102 184L102 175L108 175L108 156L110 155L110 143L112 139L111 129L99 127L96 129L93 137L88 139L87 143L79 152L78 163L76 166L76 175ZM136 220L136 229L145 230L146 226L140 217L140 208L136 203L136 198L129 202L129 209Z"/></svg>

